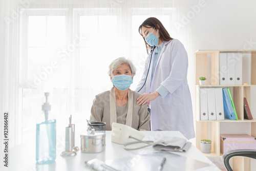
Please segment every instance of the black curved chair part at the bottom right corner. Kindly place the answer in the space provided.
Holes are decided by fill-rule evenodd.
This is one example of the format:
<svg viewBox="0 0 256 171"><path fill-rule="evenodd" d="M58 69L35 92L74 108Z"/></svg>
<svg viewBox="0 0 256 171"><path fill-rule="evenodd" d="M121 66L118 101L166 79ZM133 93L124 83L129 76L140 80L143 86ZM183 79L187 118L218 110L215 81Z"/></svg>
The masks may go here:
<svg viewBox="0 0 256 171"><path fill-rule="evenodd" d="M229 164L229 159L234 156L249 157L256 159L255 149L234 149L224 153L222 156L222 162L224 163L227 171L233 171Z"/></svg>

